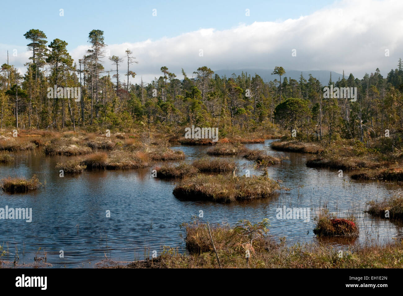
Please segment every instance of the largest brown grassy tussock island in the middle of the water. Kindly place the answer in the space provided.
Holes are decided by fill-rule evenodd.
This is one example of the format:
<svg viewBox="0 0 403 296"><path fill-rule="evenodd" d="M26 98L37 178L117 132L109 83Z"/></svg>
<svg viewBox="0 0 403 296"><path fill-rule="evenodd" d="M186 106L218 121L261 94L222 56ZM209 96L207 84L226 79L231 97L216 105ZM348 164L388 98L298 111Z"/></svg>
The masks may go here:
<svg viewBox="0 0 403 296"><path fill-rule="evenodd" d="M280 189L278 183L265 176L233 178L231 175L198 174L183 179L174 188L173 194L185 199L229 203L270 197L278 189Z"/></svg>

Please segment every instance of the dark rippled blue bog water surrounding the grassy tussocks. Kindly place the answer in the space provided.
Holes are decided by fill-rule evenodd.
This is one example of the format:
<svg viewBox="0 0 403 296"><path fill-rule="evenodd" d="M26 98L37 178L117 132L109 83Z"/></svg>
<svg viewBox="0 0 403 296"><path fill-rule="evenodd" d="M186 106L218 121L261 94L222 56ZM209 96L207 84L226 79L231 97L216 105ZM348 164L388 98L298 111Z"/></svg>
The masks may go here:
<svg viewBox="0 0 403 296"><path fill-rule="evenodd" d="M283 180L280 191L271 199L251 203L220 204L177 199L172 195L174 181L153 178L152 168L127 171L83 172L77 176L59 177L56 162L66 157L46 157L40 149L15 154L16 164L0 166L0 178L6 176L31 177L46 180L44 188L34 193L9 195L0 193L0 207L32 208L32 222L0 220L0 244L9 252L1 259L13 261L18 252L19 263L33 263L34 257L44 257L53 267L91 267L105 255L122 261L142 259L152 251L160 253L162 246L184 247L179 237L180 224L190 222L192 215L203 211L204 221L229 222L240 219L270 220L270 234L274 239L286 237L288 243L314 242L314 216L322 207L339 216L354 213L358 217L359 238L355 244L384 244L393 238L403 238L401 226L388 220L369 217L363 211L366 202L401 193L401 186L378 182L358 182L343 178L336 170L307 168L306 159L312 155L278 152L270 142L250 144L276 156L289 157L282 164L272 166L268 174ZM206 156L208 147L174 146L187 155L186 161ZM233 157L238 174L262 174L253 169L253 162ZM310 221L276 219L278 207L310 208ZM110 217L106 217L106 211ZM341 244L338 240L326 243ZM39 251L38 249L41 248ZM60 258L60 250L64 258Z"/></svg>

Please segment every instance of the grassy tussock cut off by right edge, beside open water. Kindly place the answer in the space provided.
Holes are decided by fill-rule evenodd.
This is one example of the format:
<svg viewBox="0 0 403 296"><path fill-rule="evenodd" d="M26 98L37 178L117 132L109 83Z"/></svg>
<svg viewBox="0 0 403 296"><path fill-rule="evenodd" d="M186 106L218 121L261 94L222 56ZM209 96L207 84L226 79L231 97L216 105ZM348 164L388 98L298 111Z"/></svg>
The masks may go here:
<svg viewBox="0 0 403 296"><path fill-rule="evenodd" d="M366 211L375 217L403 220L403 195L394 196L383 201L370 201Z"/></svg>

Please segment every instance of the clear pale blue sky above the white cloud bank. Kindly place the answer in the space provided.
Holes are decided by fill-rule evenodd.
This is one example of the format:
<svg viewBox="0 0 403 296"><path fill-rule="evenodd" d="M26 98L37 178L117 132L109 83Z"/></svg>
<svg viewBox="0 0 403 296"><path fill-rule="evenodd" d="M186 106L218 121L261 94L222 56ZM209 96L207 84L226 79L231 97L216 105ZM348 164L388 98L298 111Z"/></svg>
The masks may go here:
<svg viewBox="0 0 403 296"><path fill-rule="evenodd" d="M200 28L230 29L239 23L281 21L307 15L333 3L321 1L5 1L0 42L26 44L29 29L59 38L69 49L87 41L92 29L104 31L105 43L137 42L174 37ZM16 4L18 3L18 5ZM129 4L128 4L129 3ZM59 16L59 10L64 16ZM157 16L152 16L152 10ZM245 10L250 16L245 16Z"/></svg>

